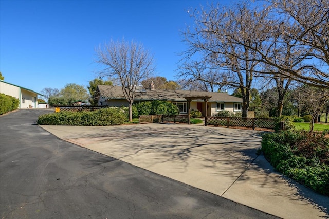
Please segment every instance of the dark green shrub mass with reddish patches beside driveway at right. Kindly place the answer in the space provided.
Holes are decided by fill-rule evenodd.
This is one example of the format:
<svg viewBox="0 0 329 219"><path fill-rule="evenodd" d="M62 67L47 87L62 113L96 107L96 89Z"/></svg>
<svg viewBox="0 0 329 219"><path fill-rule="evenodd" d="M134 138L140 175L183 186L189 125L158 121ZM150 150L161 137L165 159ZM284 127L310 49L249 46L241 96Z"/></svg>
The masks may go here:
<svg viewBox="0 0 329 219"><path fill-rule="evenodd" d="M329 195L329 138L325 134L269 133L263 136L261 150L277 171Z"/></svg>

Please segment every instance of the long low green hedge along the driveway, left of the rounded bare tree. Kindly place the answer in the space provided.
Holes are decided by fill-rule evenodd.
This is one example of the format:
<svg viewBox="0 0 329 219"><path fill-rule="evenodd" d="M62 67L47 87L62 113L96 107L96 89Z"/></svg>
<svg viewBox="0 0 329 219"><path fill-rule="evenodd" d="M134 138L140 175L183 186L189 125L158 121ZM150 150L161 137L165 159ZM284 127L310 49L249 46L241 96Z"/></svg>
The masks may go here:
<svg viewBox="0 0 329 219"><path fill-rule="evenodd" d="M119 108L102 108L92 112L60 112L39 116L40 125L121 125L127 121Z"/></svg>

